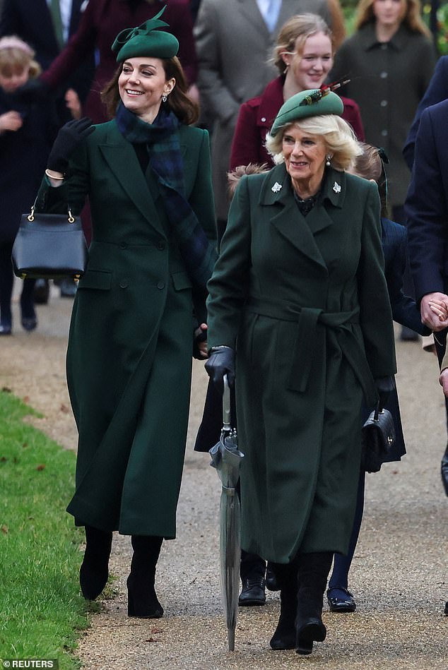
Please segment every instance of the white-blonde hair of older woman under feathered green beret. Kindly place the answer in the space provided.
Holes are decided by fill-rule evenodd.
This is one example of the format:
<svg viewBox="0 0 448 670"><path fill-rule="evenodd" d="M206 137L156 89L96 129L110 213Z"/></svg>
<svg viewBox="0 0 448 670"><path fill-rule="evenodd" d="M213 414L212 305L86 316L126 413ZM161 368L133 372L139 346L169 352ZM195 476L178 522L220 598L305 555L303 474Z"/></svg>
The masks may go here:
<svg viewBox="0 0 448 670"><path fill-rule="evenodd" d="M280 128L281 132L272 137L266 135L266 149L273 157L275 163L283 163L283 135L288 128L299 128L304 133L319 135L324 138L326 152L332 154L331 165L338 170L346 170L352 167L357 156L362 153L360 144L355 133L347 121L341 119L337 114L319 114L319 116L307 116L293 124L287 124Z"/></svg>

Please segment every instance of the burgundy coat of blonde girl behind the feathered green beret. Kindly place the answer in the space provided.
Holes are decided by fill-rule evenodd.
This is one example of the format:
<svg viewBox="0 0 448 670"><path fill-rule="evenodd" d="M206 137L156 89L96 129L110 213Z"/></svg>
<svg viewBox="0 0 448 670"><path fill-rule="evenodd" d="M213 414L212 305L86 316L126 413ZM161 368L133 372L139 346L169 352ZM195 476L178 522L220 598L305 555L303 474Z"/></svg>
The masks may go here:
<svg viewBox="0 0 448 670"><path fill-rule="evenodd" d="M271 129L284 102L283 81L283 76L277 77L266 86L261 95L241 105L230 152L231 170L248 163L267 163L269 167L273 167L272 157L266 151L264 143L266 133ZM344 105L342 118L352 126L358 140L364 142L364 128L358 104L348 97L341 96L341 100Z"/></svg>

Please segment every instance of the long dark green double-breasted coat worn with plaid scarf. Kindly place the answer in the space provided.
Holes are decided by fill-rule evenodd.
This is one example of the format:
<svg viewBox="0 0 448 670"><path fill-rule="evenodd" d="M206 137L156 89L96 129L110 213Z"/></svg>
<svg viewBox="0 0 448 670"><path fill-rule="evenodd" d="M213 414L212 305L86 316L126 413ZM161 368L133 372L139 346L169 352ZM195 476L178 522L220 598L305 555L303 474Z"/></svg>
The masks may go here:
<svg viewBox="0 0 448 670"><path fill-rule="evenodd" d="M216 237L208 133L180 126L187 199ZM38 208L76 213L93 241L73 304L67 379L78 426L78 525L175 537L193 352L191 281L155 179L115 121L95 127ZM203 299L203 307L204 299ZM204 315L201 315L204 318Z"/></svg>

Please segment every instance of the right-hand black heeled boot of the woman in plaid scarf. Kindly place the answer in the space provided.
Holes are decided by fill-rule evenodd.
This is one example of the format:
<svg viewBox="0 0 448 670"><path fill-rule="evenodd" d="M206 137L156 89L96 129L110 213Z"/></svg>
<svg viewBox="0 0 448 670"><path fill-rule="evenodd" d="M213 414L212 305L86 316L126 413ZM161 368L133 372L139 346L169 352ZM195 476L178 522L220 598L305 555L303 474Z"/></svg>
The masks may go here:
<svg viewBox="0 0 448 670"><path fill-rule="evenodd" d="M155 593L155 566L157 565L163 537L132 535L134 554L131 573L127 578L128 616L160 618L163 607Z"/></svg>

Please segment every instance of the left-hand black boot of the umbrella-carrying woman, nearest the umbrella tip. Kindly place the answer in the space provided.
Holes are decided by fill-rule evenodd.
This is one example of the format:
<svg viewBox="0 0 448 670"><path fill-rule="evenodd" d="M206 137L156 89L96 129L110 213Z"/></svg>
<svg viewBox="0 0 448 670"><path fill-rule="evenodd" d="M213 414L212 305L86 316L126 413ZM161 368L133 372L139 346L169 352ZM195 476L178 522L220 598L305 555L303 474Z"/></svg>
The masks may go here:
<svg viewBox="0 0 448 670"><path fill-rule="evenodd" d="M271 563L276 582L280 587L280 618L271 638L273 650L295 648L295 616L297 614L297 565Z"/></svg>

